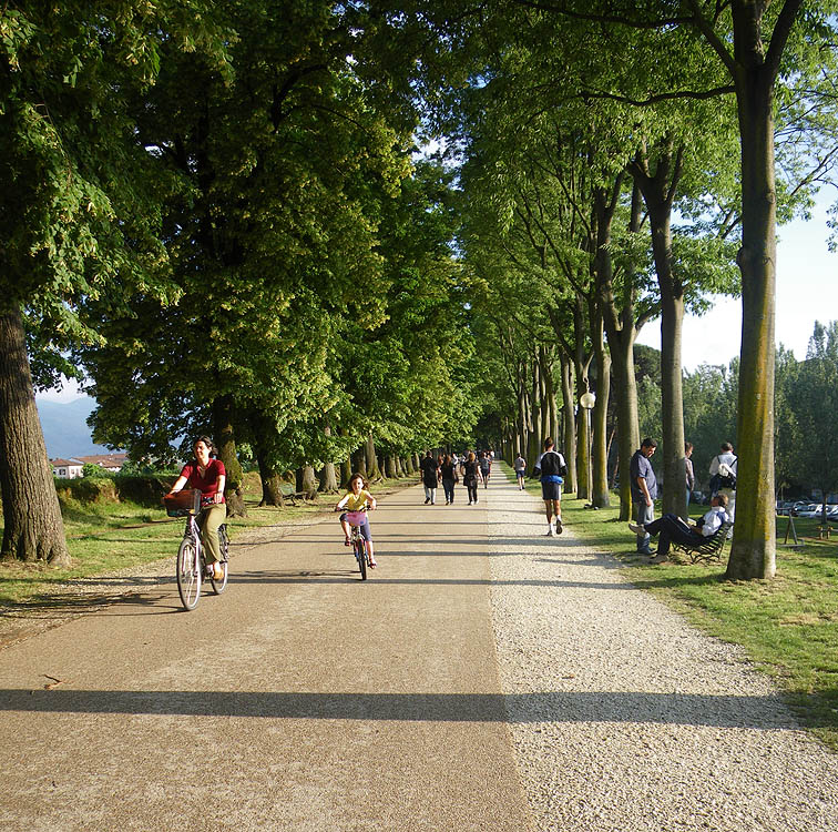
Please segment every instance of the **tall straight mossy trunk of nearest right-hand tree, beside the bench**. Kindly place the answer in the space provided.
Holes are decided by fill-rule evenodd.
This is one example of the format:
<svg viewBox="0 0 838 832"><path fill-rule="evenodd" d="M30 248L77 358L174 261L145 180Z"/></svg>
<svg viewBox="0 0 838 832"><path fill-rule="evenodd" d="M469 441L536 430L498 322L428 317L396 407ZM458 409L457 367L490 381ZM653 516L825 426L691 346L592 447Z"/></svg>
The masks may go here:
<svg viewBox="0 0 838 832"><path fill-rule="evenodd" d="M748 34L753 33L746 6L734 3L734 31L743 51ZM777 194L774 75L757 55L750 65L738 63L737 67L743 191L742 248L737 257L742 271L742 355L736 432L739 446L736 522L727 577L747 580L773 578L776 571L774 312Z"/></svg>

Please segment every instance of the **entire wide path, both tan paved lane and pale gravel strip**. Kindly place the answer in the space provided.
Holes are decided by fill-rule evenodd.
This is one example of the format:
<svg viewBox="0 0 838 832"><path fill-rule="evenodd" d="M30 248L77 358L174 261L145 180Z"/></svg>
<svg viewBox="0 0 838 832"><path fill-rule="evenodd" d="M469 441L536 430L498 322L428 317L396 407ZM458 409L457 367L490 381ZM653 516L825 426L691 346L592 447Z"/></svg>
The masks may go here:
<svg viewBox="0 0 838 832"><path fill-rule="evenodd" d="M838 832L838 758L737 648L480 497L386 497L366 584L330 519L195 612L164 579L0 650L0 830Z"/></svg>

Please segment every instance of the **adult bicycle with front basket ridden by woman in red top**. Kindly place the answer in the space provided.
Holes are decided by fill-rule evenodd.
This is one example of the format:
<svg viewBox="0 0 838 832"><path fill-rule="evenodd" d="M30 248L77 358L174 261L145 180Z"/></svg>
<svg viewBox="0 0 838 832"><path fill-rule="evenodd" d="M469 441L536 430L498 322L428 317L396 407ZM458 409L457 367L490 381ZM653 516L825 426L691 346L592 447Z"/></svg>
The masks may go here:
<svg viewBox="0 0 838 832"><path fill-rule="evenodd" d="M227 587L227 559L229 558L227 524L218 527L223 576L213 578L206 575L206 558L197 522L197 516L201 514L201 490L184 488L176 494L166 495L163 501L170 517L186 517L186 528L183 530L183 540L177 550L177 591L184 608L193 610L201 600L201 584L204 577L207 577L212 584L215 595L221 595Z"/></svg>

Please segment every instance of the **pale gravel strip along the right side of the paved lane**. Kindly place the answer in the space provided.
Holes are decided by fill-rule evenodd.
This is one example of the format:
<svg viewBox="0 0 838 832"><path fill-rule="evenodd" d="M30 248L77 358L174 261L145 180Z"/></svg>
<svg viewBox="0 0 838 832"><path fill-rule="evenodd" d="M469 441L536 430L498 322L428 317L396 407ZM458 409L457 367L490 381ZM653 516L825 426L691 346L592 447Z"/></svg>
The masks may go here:
<svg viewBox="0 0 838 832"><path fill-rule="evenodd" d="M543 504L497 480L498 659L536 829L838 830L838 757L743 652L571 530L544 537Z"/></svg>

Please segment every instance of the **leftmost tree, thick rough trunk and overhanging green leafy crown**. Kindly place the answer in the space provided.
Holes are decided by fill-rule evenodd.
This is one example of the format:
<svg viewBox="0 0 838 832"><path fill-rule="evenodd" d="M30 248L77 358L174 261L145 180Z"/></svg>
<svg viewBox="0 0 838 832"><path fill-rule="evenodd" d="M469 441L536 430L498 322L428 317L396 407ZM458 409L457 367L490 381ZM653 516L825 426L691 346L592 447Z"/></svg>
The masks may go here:
<svg viewBox="0 0 838 832"><path fill-rule="evenodd" d="M83 297L168 291L160 265L155 160L133 142L127 100L156 72L161 42L223 63L202 3L186 19L130 2L70 2L0 11L0 486L2 555L68 562L25 353L37 381L61 348L95 341L75 311ZM163 32L166 34L164 35ZM120 283L115 275L120 274ZM45 369L45 373L43 372Z"/></svg>

